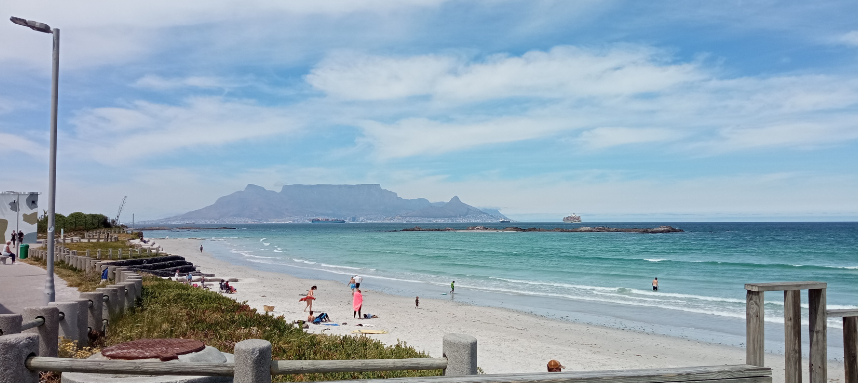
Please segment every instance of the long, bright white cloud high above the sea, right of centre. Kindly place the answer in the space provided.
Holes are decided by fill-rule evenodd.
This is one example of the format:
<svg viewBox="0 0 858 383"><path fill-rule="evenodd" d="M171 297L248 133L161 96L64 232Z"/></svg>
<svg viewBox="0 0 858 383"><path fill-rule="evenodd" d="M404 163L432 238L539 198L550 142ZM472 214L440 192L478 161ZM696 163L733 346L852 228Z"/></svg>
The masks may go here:
<svg viewBox="0 0 858 383"><path fill-rule="evenodd" d="M708 77L695 63L673 64L658 50L559 46L481 62L454 56L382 57L340 54L317 65L307 81L342 99L426 95L481 101L507 97L627 96L660 92Z"/></svg>

